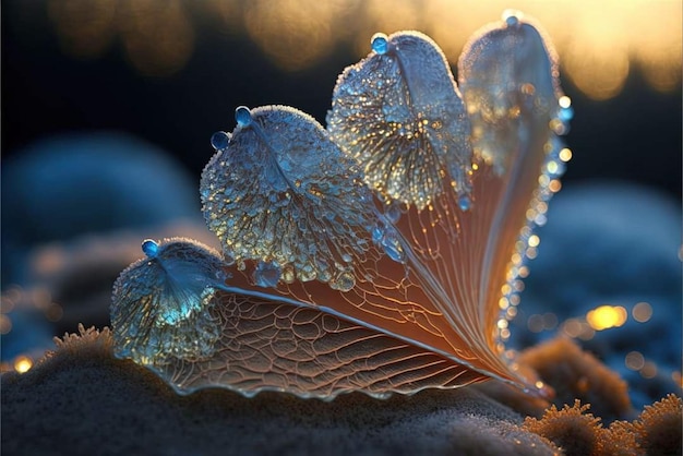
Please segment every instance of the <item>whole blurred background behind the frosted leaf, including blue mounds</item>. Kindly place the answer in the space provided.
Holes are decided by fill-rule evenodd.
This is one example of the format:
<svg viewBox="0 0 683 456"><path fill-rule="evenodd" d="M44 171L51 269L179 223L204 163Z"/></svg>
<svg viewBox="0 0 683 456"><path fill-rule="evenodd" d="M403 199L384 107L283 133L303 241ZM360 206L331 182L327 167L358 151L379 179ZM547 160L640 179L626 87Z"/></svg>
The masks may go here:
<svg viewBox="0 0 683 456"><path fill-rule="evenodd" d="M547 268L532 263L540 274L528 280L524 345L555 332L564 319L583 315L579 323L586 325L586 312L601 303L622 302L632 312L645 302L664 321L678 316L671 336L680 347L680 1L3 0L4 369L31 368L32 349L39 352L52 335L73 332L79 322L107 325L113 278L140 256L145 237L189 236L215 245L201 218L199 178L213 154L212 133L233 129L237 106L289 105L324 123L337 75L370 51L375 32L427 33L455 72L468 37L507 8L536 17L546 29L573 100L566 137L573 158L558 199L571 202L572 189L578 189L579 202L598 195L601 205L567 203L565 214L588 225L603 214L607 221L586 235L598 243L613 238L614 224L633 227L625 244L604 253L611 262L640 264L634 260L638 247L648 255L658 252L643 239L666 244L667 259L609 276L619 291L556 299L556 287L543 283L563 275L590 278L596 269L576 271L590 262L604 266L588 255L583 266L571 263L574 271L553 269L555 276L548 277ZM582 193L596 182L615 187ZM619 204L606 194L621 195ZM556 229L541 236L543 247L554 237L552 245L568 245L567 254L595 252L584 238L563 244L565 235ZM548 262L570 264L554 253ZM662 274L670 278L666 284L650 280ZM535 278L541 284L534 288L542 295L538 309L553 299L580 305L564 313L535 311ZM646 279L649 289L623 290ZM673 305L673 315L657 311L658 296ZM635 314L630 321L639 322ZM623 348L614 362L625 369L624 356L632 351ZM646 377L649 356L637 369L625 364L626 372ZM668 355L669 382L680 384L680 349Z"/></svg>

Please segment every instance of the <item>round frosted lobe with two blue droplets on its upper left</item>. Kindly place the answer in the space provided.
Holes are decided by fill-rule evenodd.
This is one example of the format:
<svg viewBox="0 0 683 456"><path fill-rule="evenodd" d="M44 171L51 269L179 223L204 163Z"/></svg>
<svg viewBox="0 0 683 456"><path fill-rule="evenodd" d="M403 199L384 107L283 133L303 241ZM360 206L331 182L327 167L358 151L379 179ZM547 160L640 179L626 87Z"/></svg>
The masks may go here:
<svg viewBox="0 0 683 456"><path fill-rule="evenodd" d="M348 272L369 248L361 238L374 224L354 160L296 109L239 107L230 143L201 182L204 217L226 255L275 263L303 281ZM281 279L273 271L262 276L254 276L261 286Z"/></svg>

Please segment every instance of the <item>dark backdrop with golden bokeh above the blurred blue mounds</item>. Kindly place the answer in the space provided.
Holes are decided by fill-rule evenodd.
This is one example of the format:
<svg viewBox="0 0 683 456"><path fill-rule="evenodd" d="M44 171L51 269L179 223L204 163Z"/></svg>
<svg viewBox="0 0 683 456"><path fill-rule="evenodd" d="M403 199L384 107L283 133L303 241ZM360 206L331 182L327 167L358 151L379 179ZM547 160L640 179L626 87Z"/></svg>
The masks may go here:
<svg viewBox="0 0 683 456"><path fill-rule="evenodd" d="M561 57L575 120L564 182L628 179L681 195L681 2L657 0L3 0L2 153L118 130L199 177L233 109L284 104L324 123L337 75L375 32L419 29L455 67L514 7Z"/></svg>

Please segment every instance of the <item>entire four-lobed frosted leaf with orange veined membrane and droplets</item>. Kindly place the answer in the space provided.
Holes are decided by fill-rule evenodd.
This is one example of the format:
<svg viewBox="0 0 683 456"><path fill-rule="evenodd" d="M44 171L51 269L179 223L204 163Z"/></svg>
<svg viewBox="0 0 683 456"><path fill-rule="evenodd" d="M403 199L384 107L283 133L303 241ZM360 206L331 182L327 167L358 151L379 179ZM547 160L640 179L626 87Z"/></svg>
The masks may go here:
<svg viewBox="0 0 683 456"><path fill-rule="evenodd" d="M145 241L115 287L118 357L179 393L537 387L502 356L500 319L567 156L556 57L519 14L472 37L459 88L422 34L371 46L337 81L329 134L271 106L212 137L201 195L223 256Z"/></svg>

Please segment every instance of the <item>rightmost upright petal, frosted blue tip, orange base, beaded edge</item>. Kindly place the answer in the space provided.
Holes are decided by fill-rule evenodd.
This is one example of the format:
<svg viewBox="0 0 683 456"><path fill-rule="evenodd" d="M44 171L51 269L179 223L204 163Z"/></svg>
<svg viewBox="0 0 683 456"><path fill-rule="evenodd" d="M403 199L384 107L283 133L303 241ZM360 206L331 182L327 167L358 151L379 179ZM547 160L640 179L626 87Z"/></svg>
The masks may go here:
<svg viewBox="0 0 683 456"><path fill-rule="evenodd" d="M477 280L488 322L500 317L501 289L516 288L527 240L556 191L551 182L562 173L564 145L558 135L568 124L559 118L560 100L568 106L568 98L559 76L552 45L518 12L477 32L458 61L479 167L472 192L479 209L462 219L462 230L474 238L488 225Z"/></svg>

